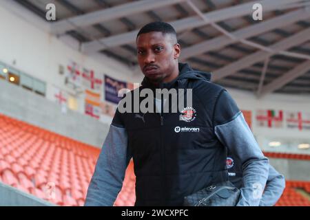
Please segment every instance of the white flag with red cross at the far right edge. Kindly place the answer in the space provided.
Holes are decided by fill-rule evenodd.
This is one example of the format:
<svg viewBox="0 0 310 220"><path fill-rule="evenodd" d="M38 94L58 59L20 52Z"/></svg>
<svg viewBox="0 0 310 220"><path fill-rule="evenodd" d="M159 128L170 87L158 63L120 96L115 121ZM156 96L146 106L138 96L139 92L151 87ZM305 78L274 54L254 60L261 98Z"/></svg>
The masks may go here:
<svg viewBox="0 0 310 220"><path fill-rule="evenodd" d="M286 119L289 129L310 130L310 113L287 111Z"/></svg>

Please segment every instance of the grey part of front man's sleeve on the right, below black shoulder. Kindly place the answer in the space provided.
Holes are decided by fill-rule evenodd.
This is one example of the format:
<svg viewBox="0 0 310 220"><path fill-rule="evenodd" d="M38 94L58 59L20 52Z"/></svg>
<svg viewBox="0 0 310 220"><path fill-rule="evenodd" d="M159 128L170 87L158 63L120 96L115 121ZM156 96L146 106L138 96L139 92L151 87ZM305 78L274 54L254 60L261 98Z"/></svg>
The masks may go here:
<svg viewBox="0 0 310 220"><path fill-rule="evenodd" d="M242 113L230 122L215 126L215 133L242 166L242 188L237 206L259 206L265 188L269 161L262 154Z"/></svg>

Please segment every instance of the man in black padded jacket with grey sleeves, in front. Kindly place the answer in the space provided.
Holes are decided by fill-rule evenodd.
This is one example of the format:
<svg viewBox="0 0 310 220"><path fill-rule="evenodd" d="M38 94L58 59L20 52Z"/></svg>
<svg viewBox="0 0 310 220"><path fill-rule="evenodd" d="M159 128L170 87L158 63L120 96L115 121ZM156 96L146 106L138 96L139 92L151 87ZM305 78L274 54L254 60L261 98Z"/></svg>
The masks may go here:
<svg viewBox="0 0 310 220"><path fill-rule="evenodd" d="M269 162L228 92L211 83L209 73L178 63L180 45L168 23L145 25L138 32L136 47L145 75L136 91L192 89L192 106L177 113L121 113L118 105L85 206L113 205L130 158L136 175L136 206L182 206L185 196L227 181L227 148L242 163L244 187L238 206L258 206ZM163 101L169 110L170 99ZM154 102L162 110L165 103L159 100Z"/></svg>

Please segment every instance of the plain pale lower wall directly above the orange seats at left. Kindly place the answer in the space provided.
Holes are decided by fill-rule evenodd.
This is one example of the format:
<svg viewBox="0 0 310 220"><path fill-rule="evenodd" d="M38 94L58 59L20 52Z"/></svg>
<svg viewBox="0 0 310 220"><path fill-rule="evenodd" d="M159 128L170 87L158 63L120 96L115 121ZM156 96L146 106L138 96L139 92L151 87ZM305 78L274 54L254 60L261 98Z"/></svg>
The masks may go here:
<svg viewBox="0 0 310 220"><path fill-rule="evenodd" d="M109 129L108 124L70 109L62 113L59 104L3 80L0 103L4 115L99 148Z"/></svg>

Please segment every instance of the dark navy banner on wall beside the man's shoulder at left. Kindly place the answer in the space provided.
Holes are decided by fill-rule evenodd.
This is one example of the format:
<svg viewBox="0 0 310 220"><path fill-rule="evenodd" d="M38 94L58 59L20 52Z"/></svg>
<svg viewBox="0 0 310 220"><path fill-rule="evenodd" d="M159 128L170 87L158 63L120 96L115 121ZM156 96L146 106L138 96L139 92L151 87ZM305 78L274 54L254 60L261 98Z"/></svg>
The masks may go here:
<svg viewBox="0 0 310 220"><path fill-rule="evenodd" d="M105 100L118 104L122 97L118 97L118 91L127 88L127 83L105 75Z"/></svg>

